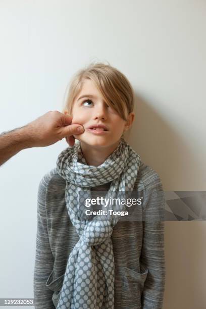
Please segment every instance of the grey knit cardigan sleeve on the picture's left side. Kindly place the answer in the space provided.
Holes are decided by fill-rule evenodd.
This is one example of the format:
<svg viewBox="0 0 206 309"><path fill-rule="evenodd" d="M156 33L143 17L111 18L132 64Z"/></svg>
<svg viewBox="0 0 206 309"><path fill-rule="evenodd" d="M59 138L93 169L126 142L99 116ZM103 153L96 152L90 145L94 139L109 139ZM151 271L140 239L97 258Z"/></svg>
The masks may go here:
<svg viewBox="0 0 206 309"><path fill-rule="evenodd" d="M54 256L50 248L47 232L46 186L47 181L44 176L40 181L37 197L36 254L33 281L35 309L55 309L52 300L54 291L48 289L45 285L54 266Z"/></svg>

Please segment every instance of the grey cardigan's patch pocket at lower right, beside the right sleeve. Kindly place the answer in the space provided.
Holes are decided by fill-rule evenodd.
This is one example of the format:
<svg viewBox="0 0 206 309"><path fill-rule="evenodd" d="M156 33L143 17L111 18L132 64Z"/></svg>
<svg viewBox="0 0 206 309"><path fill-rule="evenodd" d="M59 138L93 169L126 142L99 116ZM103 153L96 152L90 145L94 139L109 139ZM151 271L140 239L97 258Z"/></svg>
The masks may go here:
<svg viewBox="0 0 206 309"><path fill-rule="evenodd" d="M144 282L148 270L141 266L143 273L138 273L130 268L123 267L122 275L122 309L140 309L141 308L141 293L144 287Z"/></svg>

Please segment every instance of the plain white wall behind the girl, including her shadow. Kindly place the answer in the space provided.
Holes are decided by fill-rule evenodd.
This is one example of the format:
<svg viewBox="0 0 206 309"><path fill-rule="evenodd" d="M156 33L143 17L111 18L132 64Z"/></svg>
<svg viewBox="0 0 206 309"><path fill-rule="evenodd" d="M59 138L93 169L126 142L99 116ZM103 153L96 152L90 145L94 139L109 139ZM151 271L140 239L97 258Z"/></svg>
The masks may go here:
<svg viewBox="0 0 206 309"><path fill-rule="evenodd" d="M71 75L109 61L136 93L129 142L165 190L205 190L206 2L1 0L0 132L62 109ZM65 140L0 169L0 297L33 297L36 199ZM166 222L164 309L204 308L205 222Z"/></svg>

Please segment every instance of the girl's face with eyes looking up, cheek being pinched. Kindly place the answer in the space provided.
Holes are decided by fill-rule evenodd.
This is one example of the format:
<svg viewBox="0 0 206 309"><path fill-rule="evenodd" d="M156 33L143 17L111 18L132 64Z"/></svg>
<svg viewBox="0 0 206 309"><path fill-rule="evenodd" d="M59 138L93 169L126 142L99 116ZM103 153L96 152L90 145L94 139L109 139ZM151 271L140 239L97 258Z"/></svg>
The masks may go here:
<svg viewBox="0 0 206 309"><path fill-rule="evenodd" d="M130 127L134 119L134 113L130 113L127 122L122 119L114 109L107 105L90 79L85 79L74 101L72 116L72 124L77 123L84 127L84 132L74 137L80 142L97 147L108 147L119 143L122 133ZM88 129L96 124L105 125L108 131L98 134Z"/></svg>

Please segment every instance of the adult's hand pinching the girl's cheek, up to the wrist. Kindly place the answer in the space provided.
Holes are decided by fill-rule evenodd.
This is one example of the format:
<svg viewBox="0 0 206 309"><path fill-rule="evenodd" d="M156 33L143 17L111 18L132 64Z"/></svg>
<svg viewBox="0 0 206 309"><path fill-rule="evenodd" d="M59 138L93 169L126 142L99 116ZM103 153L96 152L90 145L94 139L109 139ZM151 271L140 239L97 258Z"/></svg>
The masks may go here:
<svg viewBox="0 0 206 309"><path fill-rule="evenodd" d="M36 120L27 124L28 135L32 147L48 146L66 138L68 144L73 146L73 134L82 134L84 127L80 124L71 124L72 116L58 111L49 111ZM24 127L26 129L26 127ZM81 131L78 131L80 127Z"/></svg>

